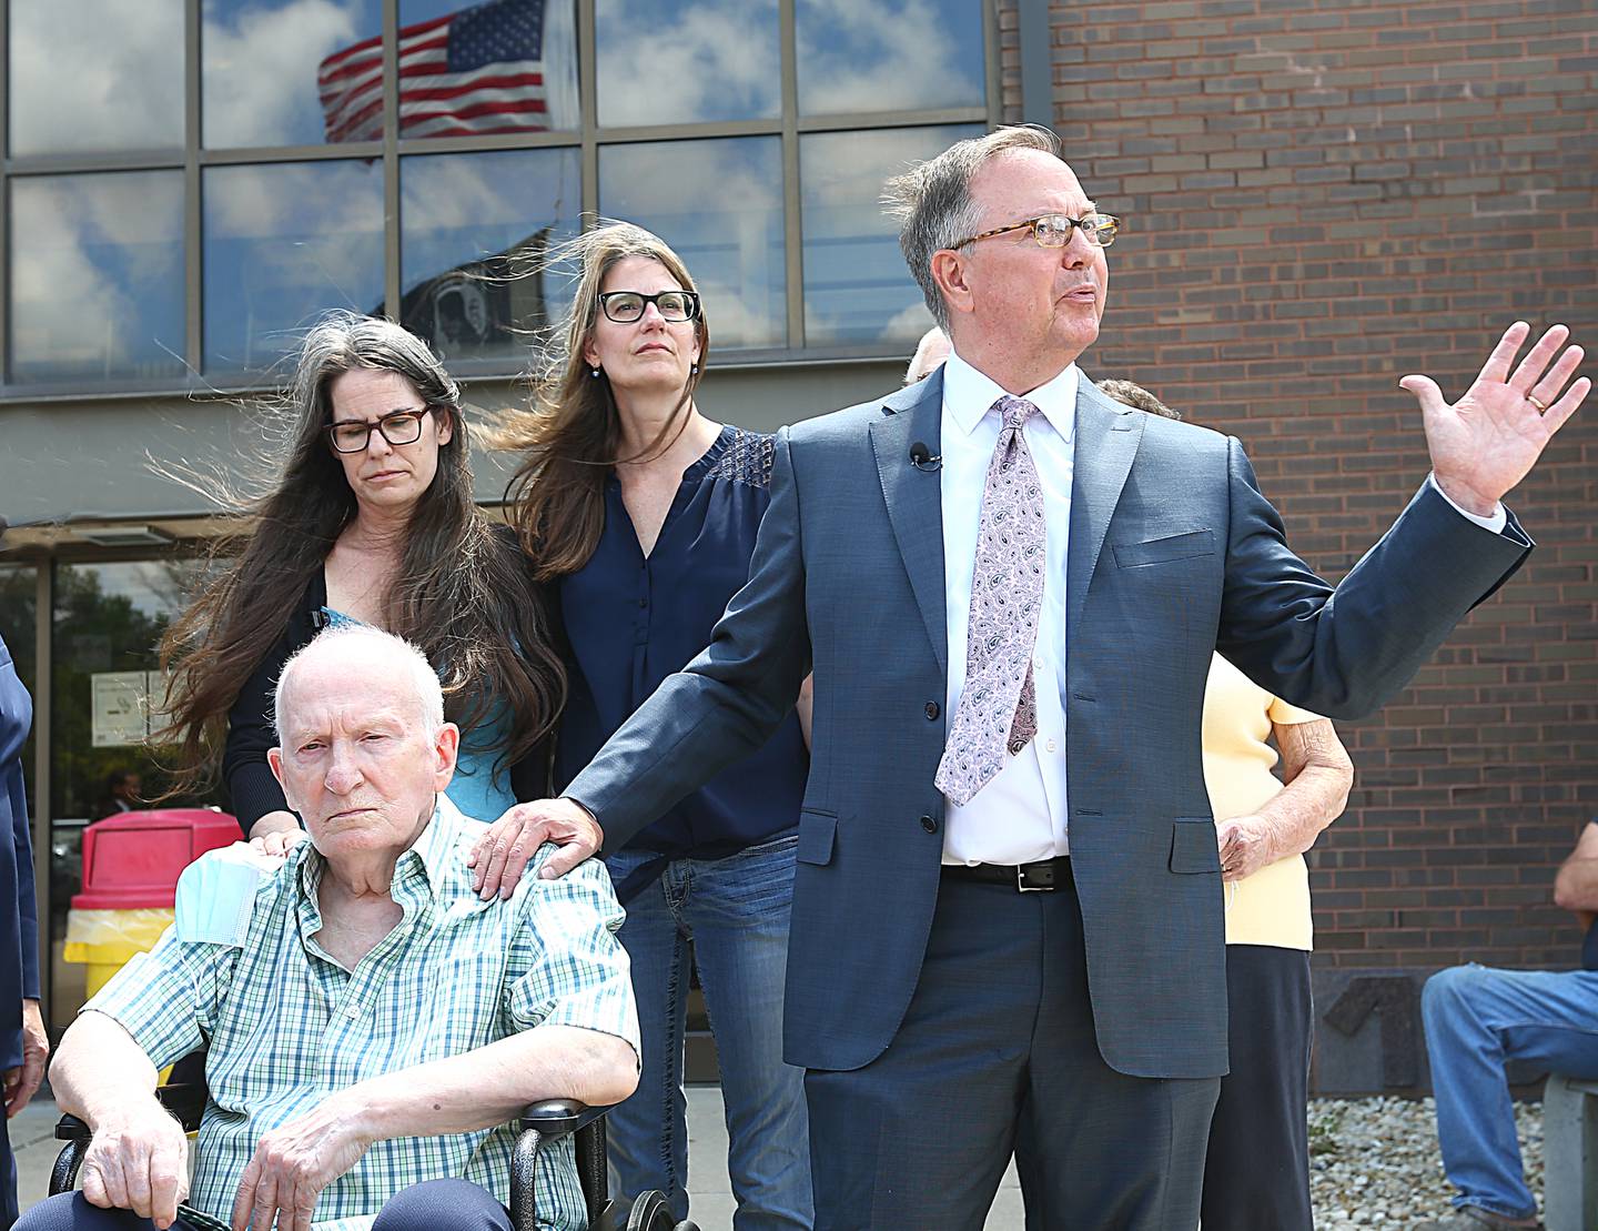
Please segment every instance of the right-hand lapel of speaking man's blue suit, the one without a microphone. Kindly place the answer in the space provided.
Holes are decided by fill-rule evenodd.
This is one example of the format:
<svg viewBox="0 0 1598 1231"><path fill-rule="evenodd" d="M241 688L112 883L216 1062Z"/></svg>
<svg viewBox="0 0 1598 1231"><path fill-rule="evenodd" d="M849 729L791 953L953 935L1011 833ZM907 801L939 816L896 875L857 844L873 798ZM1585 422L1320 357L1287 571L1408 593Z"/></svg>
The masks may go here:
<svg viewBox="0 0 1598 1231"><path fill-rule="evenodd" d="M1071 542L1066 556L1066 654L1077 644L1077 625L1088 584L1098 568L1109 520L1127 486L1143 440L1144 412L1111 401L1083 374L1077 392L1075 462L1071 475Z"/></svg>

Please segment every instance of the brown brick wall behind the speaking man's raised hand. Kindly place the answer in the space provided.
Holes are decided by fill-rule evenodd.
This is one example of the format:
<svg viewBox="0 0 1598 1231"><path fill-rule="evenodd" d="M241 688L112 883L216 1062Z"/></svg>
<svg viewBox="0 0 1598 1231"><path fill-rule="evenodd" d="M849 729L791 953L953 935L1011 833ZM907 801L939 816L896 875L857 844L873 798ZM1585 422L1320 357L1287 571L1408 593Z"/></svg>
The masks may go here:
<svg viewBox="0 0 1598 1231"><path fill-rule="evenodd" d="M999 24L1018 118L1013 3ZM1425 473L1400 376L1457 396L1517 317L1598 347L1590 0L1056 5L1050 26L1067 158L1128 219L1085 366L1242 436L1322 572ZM1312 855L1322 974L1572 961L1548 897L1598 815L1595 473L1590 404L1512 499L1529 566L1341 727L1358 780Z"/></svg>

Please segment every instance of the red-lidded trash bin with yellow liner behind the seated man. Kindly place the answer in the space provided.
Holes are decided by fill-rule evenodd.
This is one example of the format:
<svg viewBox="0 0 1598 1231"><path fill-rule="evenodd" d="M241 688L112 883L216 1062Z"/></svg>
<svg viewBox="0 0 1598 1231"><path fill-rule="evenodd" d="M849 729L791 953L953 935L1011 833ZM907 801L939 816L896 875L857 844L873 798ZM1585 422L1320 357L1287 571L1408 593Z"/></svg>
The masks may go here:
<svg viewBox="0 0 1598 1231"><path fill-rule="evenodd" d="M120 812L83 830L83 892L72 895L61 956L85 964L88 996L161 938L182 870L237 841L238 820L209 807Z"/></svg>

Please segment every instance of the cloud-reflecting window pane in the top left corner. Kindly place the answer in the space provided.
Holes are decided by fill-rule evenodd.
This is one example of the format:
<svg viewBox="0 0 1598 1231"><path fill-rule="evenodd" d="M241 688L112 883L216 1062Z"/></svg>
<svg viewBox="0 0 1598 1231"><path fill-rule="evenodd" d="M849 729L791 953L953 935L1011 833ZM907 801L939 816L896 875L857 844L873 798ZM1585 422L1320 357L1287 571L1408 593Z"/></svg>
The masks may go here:
<svg viewBox="0 0 1598 1231"><path fill-rule="evenodd" d="M10 14L13 158L182 147L182 0L11 0Z"/></svg>

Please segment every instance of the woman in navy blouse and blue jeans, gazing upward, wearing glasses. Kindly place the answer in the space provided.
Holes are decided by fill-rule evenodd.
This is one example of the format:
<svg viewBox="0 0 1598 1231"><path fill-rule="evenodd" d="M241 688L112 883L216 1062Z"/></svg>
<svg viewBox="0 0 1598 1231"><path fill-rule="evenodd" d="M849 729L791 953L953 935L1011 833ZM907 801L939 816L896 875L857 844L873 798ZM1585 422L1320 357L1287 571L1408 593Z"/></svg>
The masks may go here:
<svg viewBox="0 0 1598 1231"><path fill-rule="evenodd" d="M559 587L569 641L558 790L710 643L748 580L773 456L770 436L695 408L710 329L663 241L615 224L562 257L580 267L564 345L550 347L532 409L505 416L497 440L524 456L513 521L537 580ZM801 699L764 747L606 852L644 1041L638 1092L607 1117L614 1186L626 1199L660 1189L687 1218L692 943L721 1063L737 1231L813 1225L804 1073L781 1060L807 713ZM532 851L518 835L511 809L479 844L484 895L521 876Z"/></svg>

